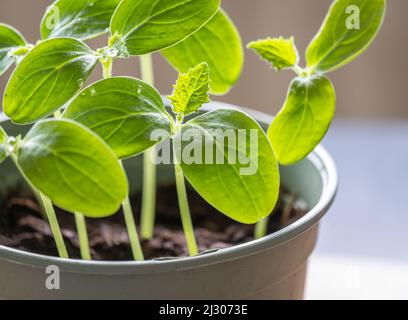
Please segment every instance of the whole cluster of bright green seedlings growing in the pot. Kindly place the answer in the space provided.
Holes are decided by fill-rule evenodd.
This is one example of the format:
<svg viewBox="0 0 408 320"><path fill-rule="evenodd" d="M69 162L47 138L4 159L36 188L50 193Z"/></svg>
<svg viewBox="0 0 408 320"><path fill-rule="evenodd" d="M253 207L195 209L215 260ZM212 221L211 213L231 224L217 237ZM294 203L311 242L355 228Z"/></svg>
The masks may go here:
<svg viewBox="0 0 408 320"><path fill-rule="evenodd" d="M141 235L150 238L156 200L152 155L166 141L172 141L180 213L191 255L198 249L185 178L220 212L242 223L258 223L256 237L265 235L267 217L279 195L278 163L302 160L321 141L335 109L334 89L325 74L368 47L386 4L385 0L334 1L306 52L304 69L298 65L293 38L249 44L277 70L292 69L298 75L266 134L241 111L200 112L210 101L209 94L225 94L232 88L243 66L239 33L220 2L58 0L44 15L42 39L36 45L0 24L0 74L17 65L3 109L13 123L32 126L24 137L9 137L1 129L0 160L14 161L42 203L61 257L68 258L68 253L53 205L75 215L83 259L91 259L85 217L107 217L122 207L133 256L143 260L122 160L144 154ZM360 29L343 23L351 5L361 8ZM85 43L106 32L110 37L105 48L92 50ZM151 54L156 52L180 72L167 104L154 88ZM143 80L112 77L114 61L131 56L140 56ZM84 88L98 62L104 79ZM189 130L203 139L186 141L182 136ZM243 139L225 145L226 131ZM160 136L152 139L157 132ZM181 156L186 148L193 153L216 150L225 161L191 163ZM231 155L255 161L256 170L242 174L242 163L227 161L234 158Z"/></svg>

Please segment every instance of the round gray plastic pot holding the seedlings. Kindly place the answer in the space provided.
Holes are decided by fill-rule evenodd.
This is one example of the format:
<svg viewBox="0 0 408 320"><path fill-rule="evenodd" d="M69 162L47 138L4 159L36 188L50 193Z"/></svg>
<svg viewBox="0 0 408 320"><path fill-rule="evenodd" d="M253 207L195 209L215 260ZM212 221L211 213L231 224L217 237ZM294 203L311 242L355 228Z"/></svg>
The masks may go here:
<svg viewBox="0 0 408 320"><path fill-rule="evenodd" d="M213 103L211 108L232 107ZM207 108L208 109L208 108ZM268 115L245 109L262 125ZM2 119L10 134L22 127ZM125 163L131 187L138 184L139 158ZM173 179L171 167L159 167L159 183ZM146 262L63 260L0 246L0 298L3 299L302 299L308 258L319 220L337 189L331 157L318 147L308 159L284 167L282 183L311 210L292 225L263 239L196 257ZM0 199L21 182L11 162L0 166ZM140 183L140 182L139 182ZM48 266L60 270L60 289L46 288Z"/></svg>

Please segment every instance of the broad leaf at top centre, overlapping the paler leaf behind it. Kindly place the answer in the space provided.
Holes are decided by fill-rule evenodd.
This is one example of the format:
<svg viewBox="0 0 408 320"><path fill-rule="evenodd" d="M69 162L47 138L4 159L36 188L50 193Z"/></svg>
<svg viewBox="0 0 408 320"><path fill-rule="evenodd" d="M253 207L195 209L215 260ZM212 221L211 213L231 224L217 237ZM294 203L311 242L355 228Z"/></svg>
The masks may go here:
<svg viewBox="0 0 408 320"><path fill-rule="evenodd" d="M170 47L205 25L220 0L122 0L111 21L112 35L120 34L130 55Z"/></svg>

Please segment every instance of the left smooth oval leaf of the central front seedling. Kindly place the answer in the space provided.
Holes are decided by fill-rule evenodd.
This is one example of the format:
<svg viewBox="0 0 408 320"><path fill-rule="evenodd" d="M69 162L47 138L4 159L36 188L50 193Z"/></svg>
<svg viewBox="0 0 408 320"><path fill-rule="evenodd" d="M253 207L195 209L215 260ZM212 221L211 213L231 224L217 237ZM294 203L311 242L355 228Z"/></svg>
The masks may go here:
<svg viewBox="0 0 408 320"><path fill-rule="evenodd" d="M134 78L92 84L68 105L63 117L78 121L104 139L119 158L137 155L170 136L170 116L160 94ZM153 131L168 135L152 140Z"/></svg>

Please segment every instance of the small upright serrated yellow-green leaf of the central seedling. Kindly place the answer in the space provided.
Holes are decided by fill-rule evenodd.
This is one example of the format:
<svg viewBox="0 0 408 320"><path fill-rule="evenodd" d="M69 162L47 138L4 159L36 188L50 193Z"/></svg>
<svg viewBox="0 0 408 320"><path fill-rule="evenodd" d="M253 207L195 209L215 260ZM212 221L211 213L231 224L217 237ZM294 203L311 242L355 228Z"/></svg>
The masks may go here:
<svg viewBox="0 0 408 320"><path fill-rule="evenodd" d="M168 97L176 114L197 112L204 103L210 101L208 71L208 64L201 63L187 73L180 74L173 95Z"/></svg>

